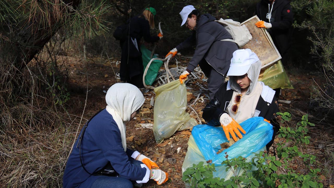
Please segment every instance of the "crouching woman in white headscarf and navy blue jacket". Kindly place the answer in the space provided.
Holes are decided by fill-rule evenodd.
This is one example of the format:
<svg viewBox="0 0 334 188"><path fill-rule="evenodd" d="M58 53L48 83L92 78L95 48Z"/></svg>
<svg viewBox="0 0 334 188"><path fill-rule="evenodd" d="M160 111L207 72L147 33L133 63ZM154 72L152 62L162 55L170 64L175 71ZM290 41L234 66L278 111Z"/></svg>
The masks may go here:
<svg viewBox="0 0 334 188"><path fill-rule="evenodd" d="M156 163L126 148L124 121L133 119L145 99L140 90L128 83L111 86L106 95L107 107L95 114L82 128L70 154L64 176L64 188L133 187L131 181L159 185L168 174ZM115 171L115 173L106 172Z"/></svg>

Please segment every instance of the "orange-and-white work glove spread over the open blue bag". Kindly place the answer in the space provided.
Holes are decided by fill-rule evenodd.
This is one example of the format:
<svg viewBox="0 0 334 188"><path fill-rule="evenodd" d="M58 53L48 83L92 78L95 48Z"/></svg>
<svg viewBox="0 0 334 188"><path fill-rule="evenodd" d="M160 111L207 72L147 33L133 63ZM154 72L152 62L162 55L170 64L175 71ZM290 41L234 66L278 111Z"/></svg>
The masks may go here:
<svg viewBox="0 0 334 188"><path fill-rule="evenodd" d="M229 134L231 134L233 140L236 142L235 133L236 133L236 135L238 135L239 138L242 138L242 135L239 132L239 130L244 134L246 133L246 131L244 131L243 128L239 125L239 123L237 123L227 113L221 114L221 116L219 118L219 122L220 122L221 126L223 127L223 130L225 132L225 135L226 135L226 138L227 138L228 141L230 140Z"/></svg>

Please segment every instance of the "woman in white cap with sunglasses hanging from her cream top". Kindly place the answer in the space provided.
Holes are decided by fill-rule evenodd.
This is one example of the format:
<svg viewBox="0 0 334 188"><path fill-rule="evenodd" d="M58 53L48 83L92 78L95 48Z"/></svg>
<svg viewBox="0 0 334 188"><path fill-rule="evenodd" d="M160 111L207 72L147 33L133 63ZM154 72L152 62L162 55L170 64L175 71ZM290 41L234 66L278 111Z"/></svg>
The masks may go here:
<svg viewBox="0 0 334 188"><path fill-rule="evenodd" d="M261 62L250 49L233 52L227 72L229 81L221 85L214 98L203 109L203 119L209 125L221 125L230 140L236 140L235 133L242 138L244 130L238 124L251 117L263 117L273 125L274 134L267 144L267 151L274 142L280 125L274 114L279 111L275 91L258 78ZM239 129L239 130L238 130Z"/></svg>

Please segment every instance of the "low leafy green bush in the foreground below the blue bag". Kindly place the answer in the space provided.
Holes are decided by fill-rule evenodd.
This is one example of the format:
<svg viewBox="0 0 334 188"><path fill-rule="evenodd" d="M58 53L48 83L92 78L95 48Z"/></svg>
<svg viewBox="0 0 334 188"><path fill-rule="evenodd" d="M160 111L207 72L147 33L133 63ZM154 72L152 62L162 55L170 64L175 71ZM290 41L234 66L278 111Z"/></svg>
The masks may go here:
<svg viewBox="0 0 334 188"><path fill-rule="evenodd" d="M291 119L291 114L288 112L278 112L277 114L284 123ZM183 173L182 180L191 188L321 188L323 184L318 178L320 169L310 167L310 164L316 162L315 156L303 153L297 147L297 145L308 145L310 143L310 137L307 136L307 126L314 126L313 123L308 122L307 114L293 128L282 126L278 137L285 138L285 142L277 144L279 160L275 156L268 155L266 151L255 154L255 157L251 161L246 161L241 156L228 159L228 155L225 153L226 160L221 164L227 167L226 171L231 170L234 174L229 180L213 177L213 172L215 171L214 164L203 166L203 162L198 165L193 164L192 167L188 168ZM287 146L286 143L290 143L291 146ZM293 168L292 162L297 158L303 159L306 173L301 174ZM258 170L252 171L254 167ZM243 173L239 176L235 172L237 168L243 170ZM282 173L282 169L287 173Z"/></svg>

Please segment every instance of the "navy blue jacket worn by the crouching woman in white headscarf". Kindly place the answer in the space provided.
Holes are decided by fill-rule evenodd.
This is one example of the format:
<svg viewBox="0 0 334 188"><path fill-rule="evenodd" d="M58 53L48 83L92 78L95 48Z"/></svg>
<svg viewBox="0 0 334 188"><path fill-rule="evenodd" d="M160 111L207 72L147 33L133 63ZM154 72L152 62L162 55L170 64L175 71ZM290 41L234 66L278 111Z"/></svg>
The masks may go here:
<svg viewBox="0 0 334 188"><path fill-rule="evenodd" d="M64 188L91 187L99 177L92 176L83 170L79 149L76 148L77 142L78 139L66 164L63 176ZM129 158L133 151L127 149L124 152L120 130L106 109L89 122L81 142L82 163L91 174L101 170L110 162L122 178L129 180L142 180L144 178L146 169L130 163Z"/></svg>

